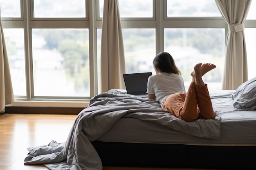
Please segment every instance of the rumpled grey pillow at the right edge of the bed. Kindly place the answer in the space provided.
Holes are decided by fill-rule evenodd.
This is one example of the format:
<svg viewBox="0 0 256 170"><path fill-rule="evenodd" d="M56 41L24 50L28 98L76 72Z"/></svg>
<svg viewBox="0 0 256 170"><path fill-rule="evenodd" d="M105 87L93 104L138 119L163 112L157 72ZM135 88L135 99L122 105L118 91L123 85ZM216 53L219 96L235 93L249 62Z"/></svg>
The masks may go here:
<svg viewBox="0 0 256 170"><path fill-rule="evenodd" d="M256 77L241 84L231 98L235 110L256 110Z"/></svg>

